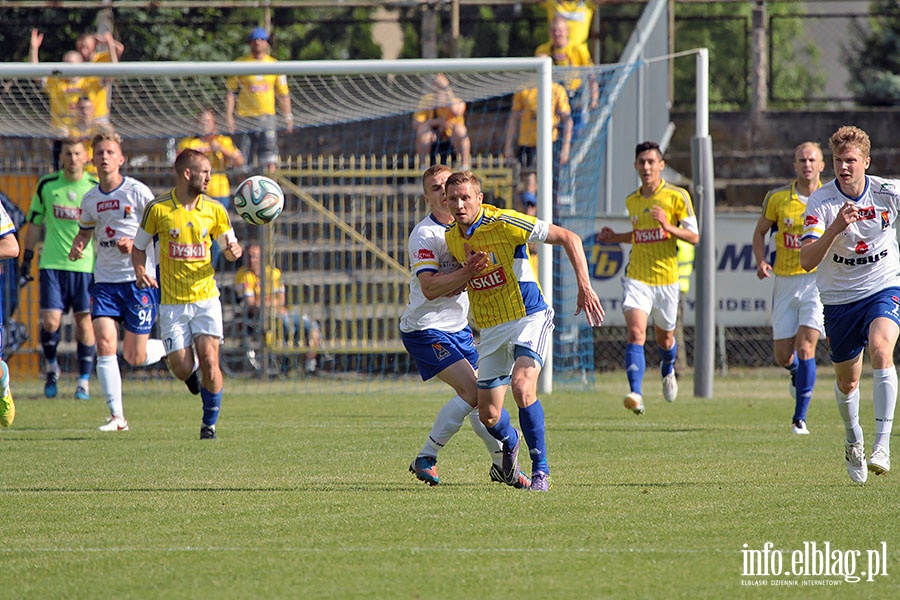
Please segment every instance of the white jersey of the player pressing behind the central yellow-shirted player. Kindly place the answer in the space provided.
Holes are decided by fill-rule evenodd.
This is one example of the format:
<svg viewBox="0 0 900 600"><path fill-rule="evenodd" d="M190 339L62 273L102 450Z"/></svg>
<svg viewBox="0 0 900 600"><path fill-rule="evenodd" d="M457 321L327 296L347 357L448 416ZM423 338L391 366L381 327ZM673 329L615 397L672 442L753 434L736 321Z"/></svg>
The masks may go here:
<svg viewBox="0 0 900 600"><path fill-rule="evenodd" d="M400 317L400 331L409 333L423 329L439 329L455 333L469 323L469 297L465 292L429 300L422 293L419 273L452 273L459 263L450 254L444 232L447 226L431 215L416 225L406 244L412 277L409 280L409 304Z"/></svg>

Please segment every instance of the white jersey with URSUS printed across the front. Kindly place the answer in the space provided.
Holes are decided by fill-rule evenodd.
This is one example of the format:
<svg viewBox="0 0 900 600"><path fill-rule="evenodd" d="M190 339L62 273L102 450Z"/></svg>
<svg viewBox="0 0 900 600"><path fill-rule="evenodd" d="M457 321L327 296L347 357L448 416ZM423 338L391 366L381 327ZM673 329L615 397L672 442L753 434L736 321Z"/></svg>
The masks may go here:
<svg viewBox="0 0 900 600"><path fill-rule="evenodd" d="M898 180L866 176L859 198L845 195L834 180L826 183L809 197L802 239L820 238L848 200L859 207L860 218L835 239L816 270L822 304L847 304L900 285Z"/></svg>

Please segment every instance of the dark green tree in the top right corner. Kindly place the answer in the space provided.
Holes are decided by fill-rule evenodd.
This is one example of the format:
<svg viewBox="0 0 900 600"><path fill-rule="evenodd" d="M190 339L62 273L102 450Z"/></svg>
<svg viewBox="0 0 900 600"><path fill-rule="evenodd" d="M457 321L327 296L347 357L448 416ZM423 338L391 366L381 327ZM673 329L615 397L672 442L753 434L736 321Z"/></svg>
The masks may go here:
<svg viewBox="0 0 900 600"><path fill-rule="evenodd" d="M900 104L900 3L877 0L871 4L869 31L857 27L860 40L849 53L856 101L864 106Z"/></svg>

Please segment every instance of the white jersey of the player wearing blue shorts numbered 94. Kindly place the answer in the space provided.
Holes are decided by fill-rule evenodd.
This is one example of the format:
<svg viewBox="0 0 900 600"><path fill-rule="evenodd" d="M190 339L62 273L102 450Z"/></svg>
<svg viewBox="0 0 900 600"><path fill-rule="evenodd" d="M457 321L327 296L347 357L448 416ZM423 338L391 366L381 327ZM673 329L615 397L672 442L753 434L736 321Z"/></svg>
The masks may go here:
<svg viewBox="0 0 900 600"><path fill-rule="evenodd" d="M93 229L97 242L97 262L94 265L94 281L98 283L122 283L134 281L131 255L119 252L119 238L134 239L144 216L144 209L153 202L153 192L146 185L125 177L121 185L109 193L96 186L81 201L82 229ZM156 270L156 253L147 250L147 272Z"/></svg>

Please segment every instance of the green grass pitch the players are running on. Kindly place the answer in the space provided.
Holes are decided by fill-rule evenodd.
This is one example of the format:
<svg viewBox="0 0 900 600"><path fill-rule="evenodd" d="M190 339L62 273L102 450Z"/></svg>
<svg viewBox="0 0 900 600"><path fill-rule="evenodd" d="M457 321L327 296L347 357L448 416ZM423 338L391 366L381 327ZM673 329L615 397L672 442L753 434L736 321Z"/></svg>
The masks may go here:
<svg viewBox="0 0 900 600"><path fill-rule="evenodd" d="M440 486L407 472L441 384L227 382L219 439L201 443L200 401L181 384L126 382L132 431L103 434L96 383L89 402L68 399L69 382L52 401L14 383L3 598L900 597L900 484L851 484L827 369L809 436L789 432L776 369L732 370L714 400L684 378L671 405L648 373L642 417L622 407L621 373L557 390L542 398L548 494L490 483L468 425L441 454ZM864 376L868 440L870 394ZM745 576L744 545L766 542L783 571L804 542L829 542L845 571L860 551L857 575L886 542L888 575Z"/></svg>

